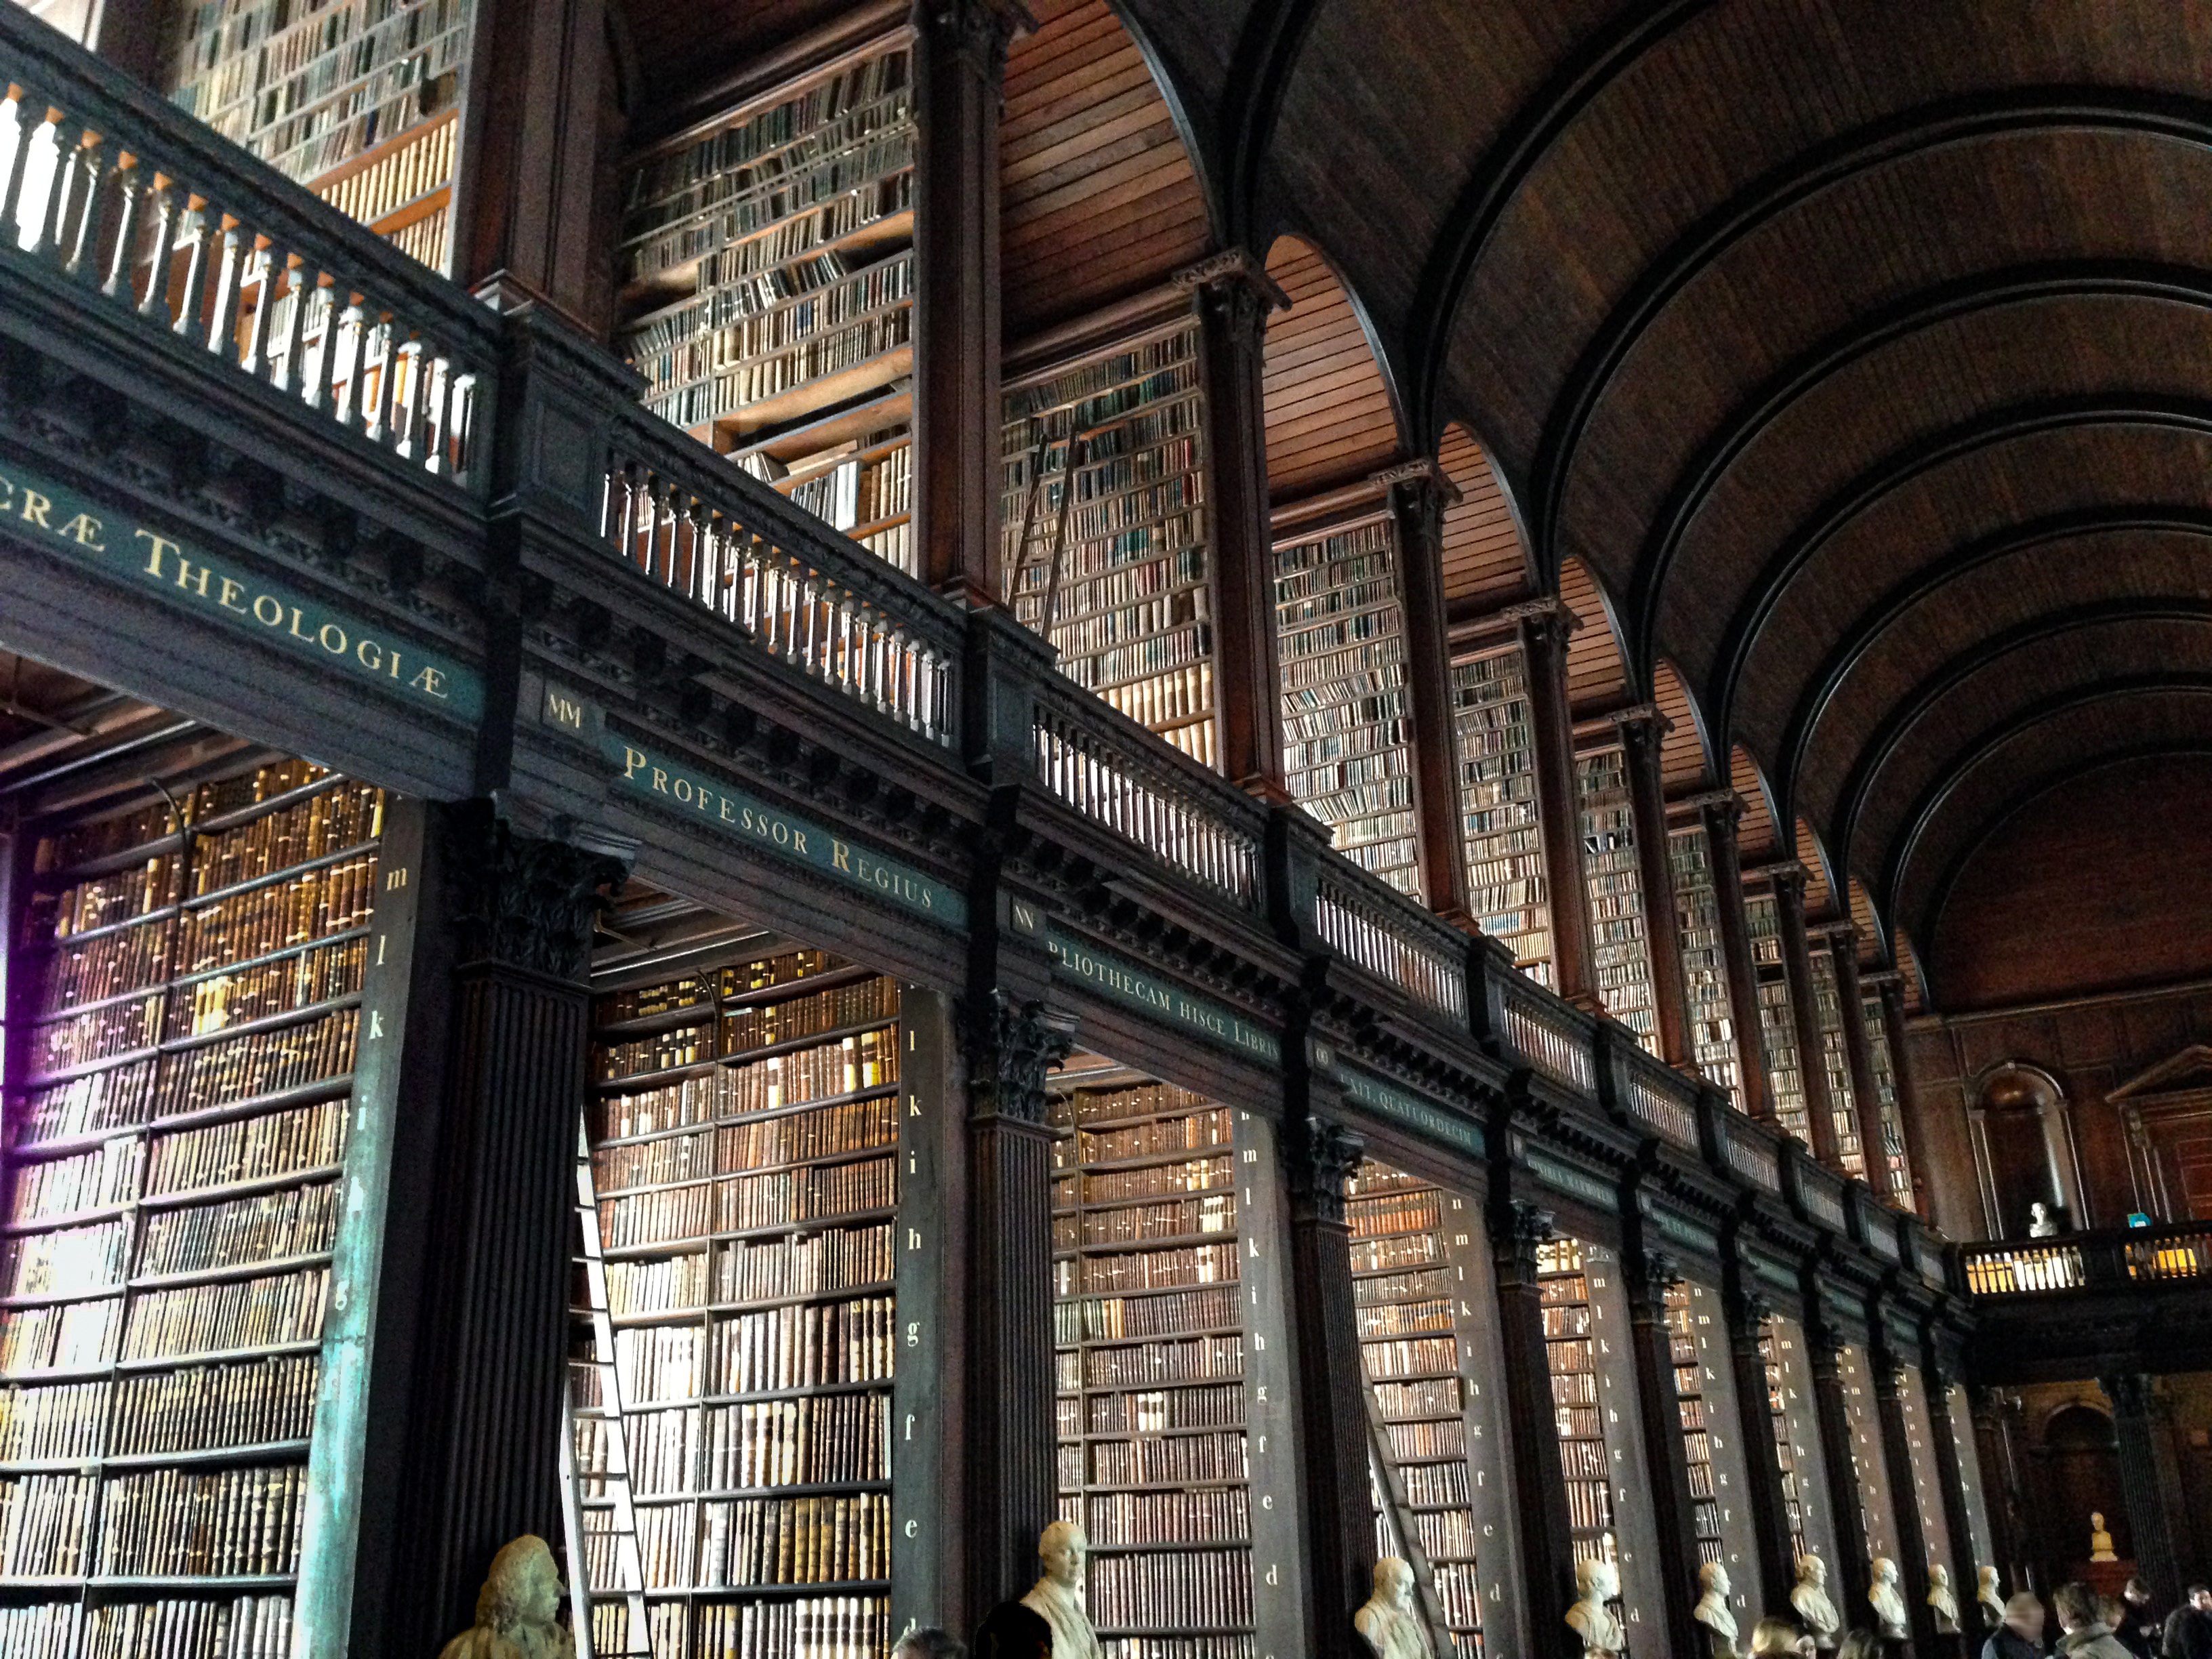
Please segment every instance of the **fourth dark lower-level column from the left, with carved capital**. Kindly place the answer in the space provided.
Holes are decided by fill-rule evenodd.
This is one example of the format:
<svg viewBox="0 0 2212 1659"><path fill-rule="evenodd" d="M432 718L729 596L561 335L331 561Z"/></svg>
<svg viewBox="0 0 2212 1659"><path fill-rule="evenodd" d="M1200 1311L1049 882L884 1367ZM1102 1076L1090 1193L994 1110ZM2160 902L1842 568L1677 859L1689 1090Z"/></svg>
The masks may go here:
<svg viewBox="0 0 2212 1659"><path fill-rule="evenodd" d="M1559 1469L1551 1356L1544 1349L1544 1285L1535 1261L1537 1245L1553 1239L1551 1210L1520 1199L1493 1201L1489 1228L1491 1270L1498 1276L1498 1345L1504 1352L1506 1440L1528 1590L1528 1650L1566 1659L1566 1610L1575 1606L1575 1533L1566 1513L1566 1475Z"/></svg>

